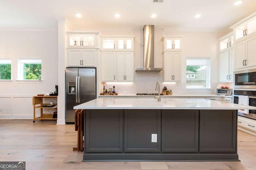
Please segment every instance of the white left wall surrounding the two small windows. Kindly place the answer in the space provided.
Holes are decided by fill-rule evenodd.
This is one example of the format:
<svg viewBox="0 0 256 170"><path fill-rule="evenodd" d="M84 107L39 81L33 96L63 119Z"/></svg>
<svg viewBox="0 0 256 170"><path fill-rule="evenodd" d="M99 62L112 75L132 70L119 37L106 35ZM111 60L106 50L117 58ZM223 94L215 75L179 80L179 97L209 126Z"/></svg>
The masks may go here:
<svg viewBox="0 0 256 170"><path fill-rule="evenodd" d="M12 81L0 81L0 118L33 118L32 96L58 84L58 32L0 31L0 57L12 60ZM18 57L42 58L42 81L16 81Z"/></svg>

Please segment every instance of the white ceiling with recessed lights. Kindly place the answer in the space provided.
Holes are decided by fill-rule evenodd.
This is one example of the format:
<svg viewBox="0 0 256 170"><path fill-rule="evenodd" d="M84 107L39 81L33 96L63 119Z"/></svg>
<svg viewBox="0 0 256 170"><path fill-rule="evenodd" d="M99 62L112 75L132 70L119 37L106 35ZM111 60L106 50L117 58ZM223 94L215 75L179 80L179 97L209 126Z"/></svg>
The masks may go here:
<svg viewBox="0 0 256 170"><path fill-rule="evenodd" d="M0 29L57 28L58 20L77 31L115 30L155 25L167 31L231 31L256 12L256 0L0 0ZM76 18L74 14L82 14ZM121 14L114 18L114 14ZM156 13L156 18L150 18ZM201 18L194 18L195 14ZM74 30L75 31L75 30Z"/></svg>

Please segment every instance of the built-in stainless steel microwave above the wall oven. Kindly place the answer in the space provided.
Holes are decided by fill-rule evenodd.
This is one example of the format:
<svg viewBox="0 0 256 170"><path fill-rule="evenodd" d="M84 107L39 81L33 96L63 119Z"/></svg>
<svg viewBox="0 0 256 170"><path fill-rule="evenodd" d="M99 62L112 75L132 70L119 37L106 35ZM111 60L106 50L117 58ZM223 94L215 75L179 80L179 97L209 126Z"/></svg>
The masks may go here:
<svg viewBox="0 0 256 170"><path fill-rule="evenodd" d="M234 72L234 88L256 88L256 69Z"/></svg>

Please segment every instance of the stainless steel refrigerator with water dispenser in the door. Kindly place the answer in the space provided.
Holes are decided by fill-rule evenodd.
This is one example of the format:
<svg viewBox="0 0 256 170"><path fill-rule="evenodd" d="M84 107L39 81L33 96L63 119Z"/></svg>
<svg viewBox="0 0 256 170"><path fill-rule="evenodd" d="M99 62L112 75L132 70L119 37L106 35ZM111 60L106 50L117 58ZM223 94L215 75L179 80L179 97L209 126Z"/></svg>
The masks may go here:
<svg viewBox="0 0 256 170"><path fill-rule="evenodd" d="M66 123L74 123L74 106L96 98L96 68L66 68Z"/></svg>

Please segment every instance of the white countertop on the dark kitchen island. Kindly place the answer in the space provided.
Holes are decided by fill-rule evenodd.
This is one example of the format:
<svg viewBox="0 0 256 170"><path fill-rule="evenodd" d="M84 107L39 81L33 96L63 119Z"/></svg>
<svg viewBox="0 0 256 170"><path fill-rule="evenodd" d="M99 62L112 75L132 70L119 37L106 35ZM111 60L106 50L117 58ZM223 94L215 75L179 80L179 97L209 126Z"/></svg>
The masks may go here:
<svg viewBox="0 0 256 170"><path fill-rule="evenodd" d="M143 99L143 98L97 98L75 106L74 109L256 109L227 102L207 99Z"/></svg>

